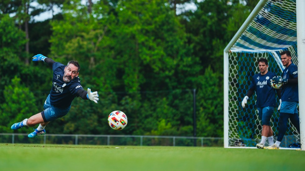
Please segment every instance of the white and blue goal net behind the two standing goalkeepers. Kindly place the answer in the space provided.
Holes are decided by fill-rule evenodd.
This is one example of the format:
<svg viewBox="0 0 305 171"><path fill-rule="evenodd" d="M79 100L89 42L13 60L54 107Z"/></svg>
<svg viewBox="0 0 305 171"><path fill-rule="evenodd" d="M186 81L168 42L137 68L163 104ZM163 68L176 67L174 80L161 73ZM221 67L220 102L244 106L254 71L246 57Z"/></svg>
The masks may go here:
<svg viewBox="0 0 305 171"><path fill-rule="evenodd" d="M257 60L266 58L268 71L281 75L280 52L289 50L297 61L296 0L261 0L224 50L224 141L225 147L255 147L262 125L256 109L256 95L243 109L252 76L259 73ZM277 98L277 104L279 104ZM278 135L277 107L271 118L274 139ZM267 143L266 143L267 145ZM300 135L289 121L281 147L300 145Z"/></svg>

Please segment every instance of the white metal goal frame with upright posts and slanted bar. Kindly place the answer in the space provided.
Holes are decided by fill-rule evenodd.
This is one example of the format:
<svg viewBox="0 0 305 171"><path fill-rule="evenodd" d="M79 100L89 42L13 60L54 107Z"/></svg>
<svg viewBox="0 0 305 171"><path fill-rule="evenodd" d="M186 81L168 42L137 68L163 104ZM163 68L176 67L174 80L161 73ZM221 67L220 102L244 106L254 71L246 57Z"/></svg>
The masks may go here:
<svg viewBox="0 0 305 171"><path fill-rule="evenodd" d="M227 44L223 50L223 115L224 115L224 148L236 148L229 146L229 52L230 48L247 29L252 20L257 16L262 7L268 0L260 0L256 7L252 10L246 21L238 29L237 33L233 36L231 41ZM296 0L296 12L297 12L297 56L298 65L305 66L305 0ZM265 51L266 52L266 51ZM271 51L270 51L271 52ZM302 88L305 85L305 68L298 67L298 91L299 91L299 118L300 118L300 141L301 149L305 150L305 89ZM249 148L249 147L242 147ZM253 147L250 147L253 148ZM282 148L280 148L282 149ZM284 148L289 149L289 148Z"/></svg>

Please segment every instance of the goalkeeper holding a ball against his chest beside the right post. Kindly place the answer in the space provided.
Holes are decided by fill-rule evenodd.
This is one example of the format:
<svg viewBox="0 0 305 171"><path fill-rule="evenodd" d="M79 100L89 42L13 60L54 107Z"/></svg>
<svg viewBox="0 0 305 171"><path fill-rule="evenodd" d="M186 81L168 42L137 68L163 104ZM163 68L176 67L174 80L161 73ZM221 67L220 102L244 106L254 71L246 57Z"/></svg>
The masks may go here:
<svg viewBox="0 0 305 171"><path fill-rule="evenodd" d="M299 101L297 66L291 61L291 54L288 50L280 53L282 64L286 67L283 70L282 77L272 78L273 83L283 83L282 86L282 103L280 106L280 119L277 141L264 149L278 150L281 141L286 133L287 121L291 123L300 133L300 119L297 112L297 103Z"/></svg>

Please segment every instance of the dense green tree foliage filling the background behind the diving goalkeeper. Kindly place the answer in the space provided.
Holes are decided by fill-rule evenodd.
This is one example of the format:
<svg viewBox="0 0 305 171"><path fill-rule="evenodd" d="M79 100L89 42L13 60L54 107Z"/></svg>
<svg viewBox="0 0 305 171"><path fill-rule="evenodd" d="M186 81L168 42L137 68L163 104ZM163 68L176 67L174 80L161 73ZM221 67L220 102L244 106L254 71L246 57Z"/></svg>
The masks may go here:
<svg viewBox="0 0 305 171"><path fill-rule="evenodd" d="M177 12L190 2L197 10ZM223 49L254 6L237 0L4 1L0 132L13 132L13 123L43 110L52 69L31 61L41 53L63 64L78 60L83 87L100 95L98 104L76 98L48 133L192 136L196 97L197 136L222 137ZM55 7L61 9L56 15ZM53 18L33 19L45 11ZM128 116L122 131L108 126L114 110Z"/></svg>

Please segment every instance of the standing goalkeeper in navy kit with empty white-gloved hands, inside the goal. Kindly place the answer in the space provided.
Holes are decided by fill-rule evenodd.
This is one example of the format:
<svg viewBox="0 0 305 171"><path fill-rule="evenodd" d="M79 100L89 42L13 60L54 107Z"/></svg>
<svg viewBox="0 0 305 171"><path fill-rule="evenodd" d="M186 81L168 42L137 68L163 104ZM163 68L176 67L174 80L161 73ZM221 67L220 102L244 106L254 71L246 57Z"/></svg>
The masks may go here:
<svg viewBox="0 0 305 171"><path fill-rule="evenodd" d="M276 76L272 72L268 72L267 59L261 58L258 60L258 68L260 73L255 74L252 77L252 82L247 95L242 100L242 107L245 108L245 104L249 97L256 91L256 107L258 110L258 116L262 121L262 139L261 142L256 145L258 149L262 149L265 146L266 140L268 144L273 144L273 131L270 126L270 119L274 111L274 107L277 106L275 93L281 99L280 90L275 90L271 87L270 81Z"/></svg>

